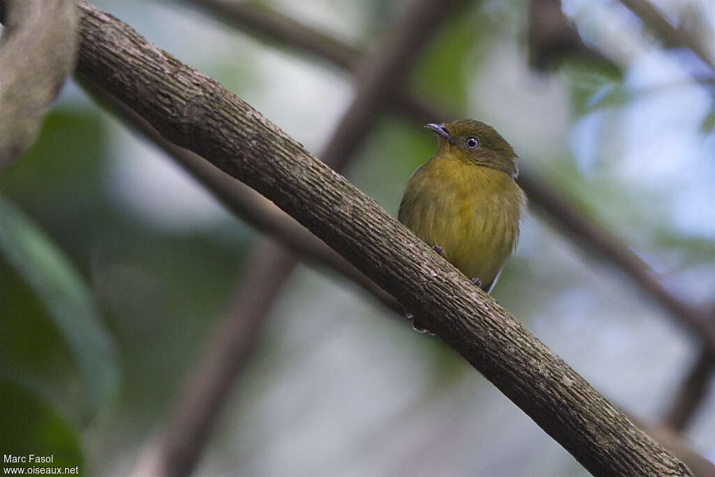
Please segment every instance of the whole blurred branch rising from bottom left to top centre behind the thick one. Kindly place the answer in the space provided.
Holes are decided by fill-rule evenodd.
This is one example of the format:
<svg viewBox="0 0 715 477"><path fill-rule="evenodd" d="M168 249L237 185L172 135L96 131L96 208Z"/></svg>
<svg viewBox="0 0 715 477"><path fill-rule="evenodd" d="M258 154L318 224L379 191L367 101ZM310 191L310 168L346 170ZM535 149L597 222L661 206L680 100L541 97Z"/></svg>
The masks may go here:
<svg viewBox="0 0 715 477"><path fill-rule="evenodd" d="M427 40L458 3L415 0L395 21L385 45L373 56L365 58L356 70L358 90L321 156L325 164L338 171L345 169L352 153L375 123L386 99L403 84ZM263 260L255 260L244 272L250 293L240 294L239 299L230 305L229 318L220 323L216 333L209 338L209 352L201 358L199 372L189 378L187 393L172 413L166 430L152 440L143 453L145 457L140 464L149 467L140 467L137 473L185 476L199 460L220 406L247 360L249 353L244 348L255 342L270 305L297 265L294 256L280 252L280 247L270 240L260 245L259 250L262 250L260 257ZM236 321L242 325L234 325ZM190 414L188 417L187 413Z"/></svg>

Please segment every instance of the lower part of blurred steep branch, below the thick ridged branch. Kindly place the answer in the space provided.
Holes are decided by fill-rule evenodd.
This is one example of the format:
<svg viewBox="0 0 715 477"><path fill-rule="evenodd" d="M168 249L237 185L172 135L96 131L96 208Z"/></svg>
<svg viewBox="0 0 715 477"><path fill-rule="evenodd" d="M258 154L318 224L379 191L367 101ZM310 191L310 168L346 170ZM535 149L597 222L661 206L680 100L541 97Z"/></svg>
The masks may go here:
<svg viewBox="0 0 715 477"><path fill-rule="evenodd" d="M240 293L225 319L209 333L204 353L178 394L179 402L161 433L144 447L132 475L188 476L211 436L240 371L255 348L273 297L290 279L296 261L291 252L263 240L253 252L250 273L242 275Z"/></svg>

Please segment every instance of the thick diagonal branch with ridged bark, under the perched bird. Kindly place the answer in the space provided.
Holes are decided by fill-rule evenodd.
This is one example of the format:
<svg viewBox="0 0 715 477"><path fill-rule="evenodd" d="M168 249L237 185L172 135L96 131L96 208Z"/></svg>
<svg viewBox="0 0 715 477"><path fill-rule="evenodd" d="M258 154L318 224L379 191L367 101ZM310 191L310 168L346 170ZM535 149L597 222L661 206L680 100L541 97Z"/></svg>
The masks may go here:
<svg viewBox="0 0 715 477"><path fill-rule="evenodd" d="M80 0L77 72L270 198L400 300L596 475L691 475L375 201L255 109Z"/></svg>

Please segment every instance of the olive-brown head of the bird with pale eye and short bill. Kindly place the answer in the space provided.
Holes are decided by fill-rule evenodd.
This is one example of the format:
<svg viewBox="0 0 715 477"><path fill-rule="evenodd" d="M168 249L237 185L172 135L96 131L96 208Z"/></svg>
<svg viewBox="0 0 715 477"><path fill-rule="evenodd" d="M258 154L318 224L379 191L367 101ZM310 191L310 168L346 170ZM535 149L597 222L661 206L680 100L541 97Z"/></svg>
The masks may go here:
<svg viewBox="0 0 715 477"><path fill-rule="evenodd" d="M449 154L462 161L490 167L516 179L518 156L496 130L483 122L460 119L444 124L425 124L439 137L436 156Z"/></svg>

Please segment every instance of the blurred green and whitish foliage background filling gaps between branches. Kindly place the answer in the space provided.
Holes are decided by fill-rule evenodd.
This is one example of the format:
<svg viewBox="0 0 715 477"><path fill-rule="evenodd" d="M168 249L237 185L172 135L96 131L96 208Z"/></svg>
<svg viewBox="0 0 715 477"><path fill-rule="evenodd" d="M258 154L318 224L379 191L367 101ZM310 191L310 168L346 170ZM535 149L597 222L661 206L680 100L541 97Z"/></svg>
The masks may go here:
<svg viewBox="0 0 715 477"><path fill-rule="evenodd" d="M264 3L366 51L406 5ZM97 4L312 150L350 101L347 74L290 47L277 54L275 42L194 9ZM620 70L571 57L533 74L526 2L485 0L438 31L410 89L454 114L501 121L531 174L671 275L679 294L706 303L715 286L711 98L664 73L670 57L622 11L565 5L589 46L616 52ZM711 31L711 19L696 29ZM385 113L347 175L395 214L434 144L412 119ZM171 159L71 84L34 147L0 174L0 194L0 402L11 410L0 448L129 473L240 287L255 232L217 213ZM495 297L608 398L658 418L696 345L539 217L532 208ZM687 434L709 456L714 406L710 398ZM386 319L332 273L304 268L276 303L199 473L586 475L439 340Z"/></svg>

